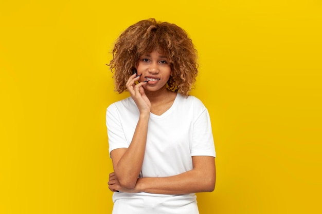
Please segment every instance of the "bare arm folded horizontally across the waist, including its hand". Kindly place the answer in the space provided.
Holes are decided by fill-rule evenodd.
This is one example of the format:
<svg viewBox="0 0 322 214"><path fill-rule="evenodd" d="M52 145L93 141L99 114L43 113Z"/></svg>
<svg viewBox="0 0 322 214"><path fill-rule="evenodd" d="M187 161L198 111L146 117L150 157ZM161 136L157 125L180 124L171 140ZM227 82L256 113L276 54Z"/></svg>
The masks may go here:
<svg viewBox="0 0 322 214"><path fill-rule="evenodd" d="M122 188L114 173L110 174L109 188L113 191L149 192L156 194L187 194L211 192L216 183L214 157L193 156L193 169L176 176L139 178L134 189Z"/></svg>

